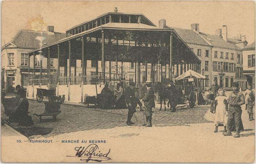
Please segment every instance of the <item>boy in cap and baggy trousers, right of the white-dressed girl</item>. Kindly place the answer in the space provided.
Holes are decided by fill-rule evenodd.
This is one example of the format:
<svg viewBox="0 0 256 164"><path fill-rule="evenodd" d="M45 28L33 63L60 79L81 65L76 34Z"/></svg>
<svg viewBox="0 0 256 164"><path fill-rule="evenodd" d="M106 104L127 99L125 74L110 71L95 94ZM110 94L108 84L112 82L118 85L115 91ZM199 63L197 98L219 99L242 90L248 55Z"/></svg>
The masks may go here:
<svg viewBox="0 0 256 164"><path fill-rule="evenodd" d="M224 132L224 136L231 136L231 130L233 125L236 127L236 134L234 137L240 137L239 133L243 129L241 119L241 105L245 104L244 95L239 92L239 84L237 82L232 83L233 92L229 95L227 103L229 104L228 117L227 117L227 132ZM241 129L242 128L242 129Z"/></svg>

